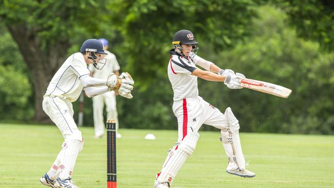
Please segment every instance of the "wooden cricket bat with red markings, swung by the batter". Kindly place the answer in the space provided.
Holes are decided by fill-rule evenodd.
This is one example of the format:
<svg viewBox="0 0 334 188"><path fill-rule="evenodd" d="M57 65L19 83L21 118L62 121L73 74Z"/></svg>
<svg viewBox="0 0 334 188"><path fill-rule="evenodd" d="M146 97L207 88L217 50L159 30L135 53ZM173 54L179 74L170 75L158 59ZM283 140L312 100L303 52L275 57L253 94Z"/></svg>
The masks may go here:
<svg viewBox="0 0 334 188"><path fill-rule="evenodd" d="M240 83L241 83L240 85L245 88L253 89L260 92L265 92L270 95L283 98L288 98L292 92L291 89L288 89L286 87L258 80L242 79Z"/></svg>

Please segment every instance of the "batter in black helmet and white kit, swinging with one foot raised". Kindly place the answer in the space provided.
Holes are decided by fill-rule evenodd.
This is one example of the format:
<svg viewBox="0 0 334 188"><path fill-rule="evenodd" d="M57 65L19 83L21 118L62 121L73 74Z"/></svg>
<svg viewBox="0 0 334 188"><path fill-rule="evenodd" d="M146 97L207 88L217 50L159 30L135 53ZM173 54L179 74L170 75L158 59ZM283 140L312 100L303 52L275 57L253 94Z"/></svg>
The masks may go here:
<svg viewBox="0 0 334 188"><path fill-rule="evenodd" d="M174 91L173 112L178 121L178 141L168 151L168 156L157 174L154 188L170 187L181 166L194 152L202 124L220 129L221 141L228 156L226 172L254 177L245 169L245 159L239 140L239 124L228 107L222 114L213 105L198 96L197 77L208 81L224 82L231 89L242 88L243 74L222 70L212 62L197 55L198 44L189 30L180 30L173 37L174 49L168 64L168 77ZM196 67L201 66L201 70ZM216 74L218 73L218 74Z"/></svg>

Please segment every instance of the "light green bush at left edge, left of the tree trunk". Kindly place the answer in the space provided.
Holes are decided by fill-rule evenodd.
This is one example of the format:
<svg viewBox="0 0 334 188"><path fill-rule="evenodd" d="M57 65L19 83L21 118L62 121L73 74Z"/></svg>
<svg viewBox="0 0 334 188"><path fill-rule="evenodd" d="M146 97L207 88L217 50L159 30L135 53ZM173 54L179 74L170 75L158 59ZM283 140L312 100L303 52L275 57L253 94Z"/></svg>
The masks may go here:
<svg viewBox="0 0 334 188"><path fill-rule="evenodd" d="M33 115L29 74L17 45L5 31L0 25L0 119L29 120Z"/></svg>

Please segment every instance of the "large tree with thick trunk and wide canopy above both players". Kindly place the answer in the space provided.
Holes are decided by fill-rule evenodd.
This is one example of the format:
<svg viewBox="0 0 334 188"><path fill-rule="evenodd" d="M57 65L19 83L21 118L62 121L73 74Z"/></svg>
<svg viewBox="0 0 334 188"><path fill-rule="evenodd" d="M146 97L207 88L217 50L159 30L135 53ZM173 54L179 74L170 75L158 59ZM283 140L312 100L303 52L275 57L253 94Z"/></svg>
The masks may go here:
<svg viewBox="0 0 334 188"><path fill-rule="evenodd" d="M127 68L145 85L163 71L172 35L182 28L196 30L198 38L219 48L233 46L247 35L255 16L254 1L21 1L0 2L0 21L6 25L31 72L35 116L48 120L41 106L51 77L66 54L85 36L101 36L115 26L124 40ZM104 7L107 7L105 9ZM216 37L216 36L219 37ZM80 44L81 44L80 43ZM76 49L79 46L76 45ZM122 54L121 54L122 55ZM124 57L125 57L124 55Z"/></svg>

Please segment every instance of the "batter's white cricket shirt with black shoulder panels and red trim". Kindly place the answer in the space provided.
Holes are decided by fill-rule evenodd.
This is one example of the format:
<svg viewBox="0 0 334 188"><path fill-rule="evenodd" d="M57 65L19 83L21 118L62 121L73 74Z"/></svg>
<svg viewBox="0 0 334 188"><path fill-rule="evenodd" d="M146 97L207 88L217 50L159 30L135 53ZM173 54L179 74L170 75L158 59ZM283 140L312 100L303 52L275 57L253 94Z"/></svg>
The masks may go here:
<svg viewBox="0 0 334 188"><path fill-rule="evenodd" d="M195 55L193 59L182 57L174 49L168 64L168 78L174 91L174 101L195 98L198 96L197 77L191 73L196 69L196 63L201 59Z"/></svg>

